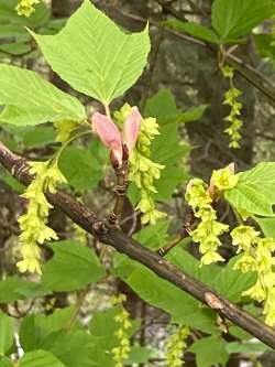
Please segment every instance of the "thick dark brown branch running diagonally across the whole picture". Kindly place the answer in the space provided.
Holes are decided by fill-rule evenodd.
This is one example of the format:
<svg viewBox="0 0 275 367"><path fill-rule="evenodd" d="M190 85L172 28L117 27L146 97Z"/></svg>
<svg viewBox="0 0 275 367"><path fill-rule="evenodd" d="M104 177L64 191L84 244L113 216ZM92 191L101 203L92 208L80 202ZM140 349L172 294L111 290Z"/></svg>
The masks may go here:
<svg viewBox="0 0 275 367"><path fill-rule="evenodd" d="M0 142L0 164L2 164L22 184L30 184L32 176L25 159L12 153ZM97 237L102 244L110 245L119 252L144 265L158 277L175 284L195 299L205 303L220 315L242 327L260 341L275 349L275 331L258 320L254 319L242 309L217 293L207 284L188 276L177 267L163 259L160 255L143 247L118 228L102 230L101 222L84 205L79 204L72 195L58 191L55 195L46 194L48 201L58 206L81 228Z"/></svg>

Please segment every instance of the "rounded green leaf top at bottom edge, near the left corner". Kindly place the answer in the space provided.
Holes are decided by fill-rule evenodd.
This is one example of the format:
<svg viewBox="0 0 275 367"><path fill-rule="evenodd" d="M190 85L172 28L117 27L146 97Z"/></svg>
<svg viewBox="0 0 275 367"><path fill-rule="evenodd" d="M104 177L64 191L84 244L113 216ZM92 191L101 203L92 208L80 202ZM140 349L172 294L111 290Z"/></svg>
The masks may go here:
<svg viewBox="0 0 275 367"><path fill-rule="evenodd" d="M33 350L26 353L18 363L18 367L66 367L52 353Z"/></svg>

